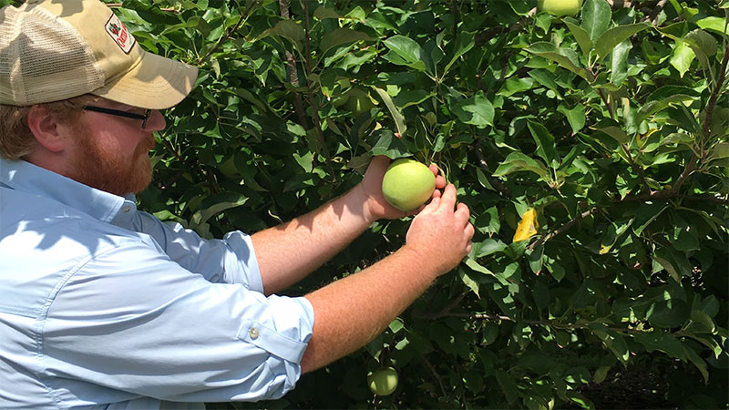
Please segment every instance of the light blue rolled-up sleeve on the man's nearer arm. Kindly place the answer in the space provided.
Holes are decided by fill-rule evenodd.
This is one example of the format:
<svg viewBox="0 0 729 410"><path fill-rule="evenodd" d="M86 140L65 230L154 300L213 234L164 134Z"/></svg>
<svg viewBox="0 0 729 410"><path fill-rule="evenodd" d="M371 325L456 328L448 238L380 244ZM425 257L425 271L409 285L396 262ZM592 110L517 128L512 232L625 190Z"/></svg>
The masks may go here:
<svg viewBox="0 0 729 410"><path fill-rule="evenodd" d="M278 398L301 376L312 328L304 298L211 283L128 240L59 286L42 333L43 373L48 383L168 401Z"/></svg>

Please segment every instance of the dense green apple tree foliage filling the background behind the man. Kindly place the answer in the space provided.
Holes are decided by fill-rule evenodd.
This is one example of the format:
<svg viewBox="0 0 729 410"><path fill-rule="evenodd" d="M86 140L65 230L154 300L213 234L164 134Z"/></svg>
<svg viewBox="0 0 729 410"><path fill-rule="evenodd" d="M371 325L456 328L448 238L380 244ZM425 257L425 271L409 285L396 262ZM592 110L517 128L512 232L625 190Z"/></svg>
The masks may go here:
<svg viewBox="0 0 729 410"><path fill-rule="evenodd" d="M435 162L474 251L282 400L218 407L726 408L726 0L125 0L200 67L142 208L209 237L344 193L371 155ZM396 133L396 135L395 135ZM398 138L398 136L400 138ZM537 234L512 241L536 210ZM377 261L380 221L291 294ZM368 371L392 364L394 395ZM211 407L213 405L210 405Z"/></svg>

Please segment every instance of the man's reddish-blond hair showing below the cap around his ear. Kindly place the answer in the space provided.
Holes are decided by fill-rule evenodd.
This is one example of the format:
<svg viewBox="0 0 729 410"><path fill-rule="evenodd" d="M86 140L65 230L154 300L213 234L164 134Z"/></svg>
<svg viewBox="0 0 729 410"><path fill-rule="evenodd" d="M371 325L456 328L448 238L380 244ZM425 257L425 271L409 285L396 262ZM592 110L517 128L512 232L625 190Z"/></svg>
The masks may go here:
<svg viewBox="0 0 729 410"><path fill-rule="evenodd" d="M57 120L69 123L80 115L81 108L89 100L98 97L85 94L60 101L38 104L45 107ZM33 106L7 106L0 104L0 157L4 159L22 159L36 147L36 137L27 126L28 111Z"/></svg>

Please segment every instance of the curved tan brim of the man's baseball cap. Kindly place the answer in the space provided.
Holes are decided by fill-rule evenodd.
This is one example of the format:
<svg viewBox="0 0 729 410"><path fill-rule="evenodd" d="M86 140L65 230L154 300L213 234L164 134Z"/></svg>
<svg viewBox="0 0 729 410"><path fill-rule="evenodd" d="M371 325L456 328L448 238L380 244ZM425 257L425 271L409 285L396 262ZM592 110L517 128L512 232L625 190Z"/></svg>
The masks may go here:
<svg viewBox="0 0 729 410"><path fill-rule="evenodd" d="M133 107L170 108L182 101L195 86L198 68L142 51L139 64L91 91L98 97Z"/></svg>

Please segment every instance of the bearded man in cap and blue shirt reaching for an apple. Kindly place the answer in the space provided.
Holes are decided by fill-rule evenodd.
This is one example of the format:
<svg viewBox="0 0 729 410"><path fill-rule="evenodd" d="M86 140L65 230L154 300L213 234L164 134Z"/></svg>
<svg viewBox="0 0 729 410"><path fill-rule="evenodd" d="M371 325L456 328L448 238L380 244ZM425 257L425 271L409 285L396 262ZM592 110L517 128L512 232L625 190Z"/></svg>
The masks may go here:
<svg viewBox="0 0 729 410"><path fill-rule="evenodd" d="M206 241L137 210L159 109L196 76L144 52L98 0L0 12L0 407L280 397L470 250L467 207L438 177L400 250L304 297L275 295L373 221L405 216L382 196L385 158L344 196L252 236Z"/></svg>

